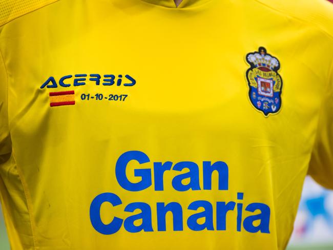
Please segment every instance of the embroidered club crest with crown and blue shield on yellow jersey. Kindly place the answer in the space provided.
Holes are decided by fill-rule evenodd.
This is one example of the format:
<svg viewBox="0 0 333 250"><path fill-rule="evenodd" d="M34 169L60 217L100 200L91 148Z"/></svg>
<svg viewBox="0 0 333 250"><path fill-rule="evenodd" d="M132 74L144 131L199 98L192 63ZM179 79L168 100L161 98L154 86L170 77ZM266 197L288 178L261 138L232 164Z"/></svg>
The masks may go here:
<svg viewBox="0 0 333 250"><path fill-rule="evenodd" d="M281 109L282 78L278 73L279 60L267 54L264 47L248 53L246 61L251 66L246 71L248 95L252 105L264 116L278 113Z"/></svg>

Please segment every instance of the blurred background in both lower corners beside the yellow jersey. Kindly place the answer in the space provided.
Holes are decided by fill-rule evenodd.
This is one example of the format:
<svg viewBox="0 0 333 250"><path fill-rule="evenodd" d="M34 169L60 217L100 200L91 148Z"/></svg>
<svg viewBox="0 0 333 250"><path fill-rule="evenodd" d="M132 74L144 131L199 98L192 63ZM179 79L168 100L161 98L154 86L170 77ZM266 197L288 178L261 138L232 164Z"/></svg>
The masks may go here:
<svg viewBox="0 0 333 250"><path fill-rule="evenodd" d="M2 213L0 250L9 250ZM267 249L269 250L269 249ZM294 232L287 250L333 250L333 191L306 177Z"/></svg>

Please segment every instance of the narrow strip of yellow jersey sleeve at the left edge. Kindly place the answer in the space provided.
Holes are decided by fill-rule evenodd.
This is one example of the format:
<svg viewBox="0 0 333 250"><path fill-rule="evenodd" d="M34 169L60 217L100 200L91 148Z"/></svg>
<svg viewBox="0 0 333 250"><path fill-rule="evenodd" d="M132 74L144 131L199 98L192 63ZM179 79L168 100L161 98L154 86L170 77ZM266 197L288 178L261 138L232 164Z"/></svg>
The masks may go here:
<svg viewBox="0 0 333 250"><path fill-rule="evenodd" d="M0 164L7 161L11 153L11 140L8 127L8 78L0 53Z"/></svg>

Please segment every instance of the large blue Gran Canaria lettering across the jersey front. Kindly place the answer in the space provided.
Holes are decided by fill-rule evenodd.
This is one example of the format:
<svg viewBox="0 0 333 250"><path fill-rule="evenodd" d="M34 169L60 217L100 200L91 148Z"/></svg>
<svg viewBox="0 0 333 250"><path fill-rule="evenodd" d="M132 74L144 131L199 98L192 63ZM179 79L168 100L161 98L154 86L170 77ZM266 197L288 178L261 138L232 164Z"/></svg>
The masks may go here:
<svg viewBox="0 0 333 250"><path fill-rule="evenodd" d="M181 161L173 164L171 161L166 162L153 162L153 173L150 168L136 168L134 169L134 176L141 177L139 182L131 182L129 179L128 164L130 161L135 160L139 164L150 162L149 157L140 151L128 151L120 155L116 162L115 172L118 184L127 191L138 192L150 188L152 177L154 177L154 191L164 190L163 174L166 171L182 171L189 170L186 173L176 175L172 179L172 187L175 191L185 192L189 190L201 190L199 184L199 167L192 161ZM222 161L214 162L203 161L202 163L202 176L203 176L203 190L212 190L212 174L218 174L218 190L228 190L228 166ZM188 179L188 184L183 184L183 180ZM192 193L193 195L193 193ZM237 203L235 201L217 201L214 203L216 212L214 212L213 204L206 200L197 200L191 202L184 214L190 211L200 211L188 216L186 225L190 230L216 230L225 231L226 221L236 221L236 230L242 231L242 227L249 233L269 233L269 206L264 203L254 202L246 205L245 211L255 214L246 213L243 219L243 206L242 200L244 193L237 193ZM154 232L152 207L145 202L133 202L127 204L123 211L133 213L140 210L139 214L130 215L123 219L120 217L113 217L109 224L103 223L100 216L100 208L103 203L108 202L112 206L119 206L122 201L119 196L114 193L102 193L97 195L90 205L90 221L95 230L101 234L110 235L118 232L123 225L124 229L130 233L138 232ZM166 231L166 214L169 212L173 216L172 228L173 231L183 231L183 207L178 202L157 202L154 205L157 215L157 231ZM202 211L203 210L203 211ZM236 213L230 212L235 211ZM213 217L215 216L215 226ZM204 220L204 223L199 223L198 220ZM155 220L154 220L155 221ZM171 222L170 222L171 223ZM170 225L171 226L171 225ZM156 229L155 229L156 231Z"/></svg>

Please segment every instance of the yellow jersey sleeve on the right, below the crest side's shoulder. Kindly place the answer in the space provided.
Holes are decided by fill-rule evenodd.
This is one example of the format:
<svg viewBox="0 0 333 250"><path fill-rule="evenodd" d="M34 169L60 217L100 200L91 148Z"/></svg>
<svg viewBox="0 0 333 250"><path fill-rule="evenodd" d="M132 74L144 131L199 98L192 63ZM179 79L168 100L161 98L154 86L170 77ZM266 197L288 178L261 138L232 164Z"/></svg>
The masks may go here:
<svg viewBox="0 0 333 250"><path fill-rule="evenodd" d="M321 105L318 130L311 155L308 174L319 184L333 189L333 64L328 89Z"/></svg>

